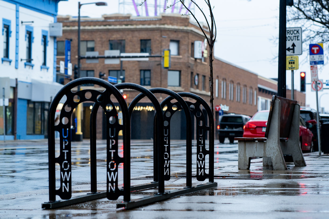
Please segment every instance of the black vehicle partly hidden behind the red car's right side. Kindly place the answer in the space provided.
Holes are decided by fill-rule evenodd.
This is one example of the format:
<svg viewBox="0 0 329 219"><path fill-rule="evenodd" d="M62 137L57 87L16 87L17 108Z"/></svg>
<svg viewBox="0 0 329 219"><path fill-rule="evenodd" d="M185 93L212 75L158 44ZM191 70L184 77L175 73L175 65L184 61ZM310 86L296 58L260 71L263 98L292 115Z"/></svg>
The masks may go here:
<svg viewBox="0 0 329 219"><path fill-rule="evenodd" d="M316 131L316 110L309 107L300 107L300 117L308 124L308 129L311 130L314 136L314 150L318 151L317 131ZM319 116L319 119L322 119ZM310 125L311 124L311 125Z"/></svg>

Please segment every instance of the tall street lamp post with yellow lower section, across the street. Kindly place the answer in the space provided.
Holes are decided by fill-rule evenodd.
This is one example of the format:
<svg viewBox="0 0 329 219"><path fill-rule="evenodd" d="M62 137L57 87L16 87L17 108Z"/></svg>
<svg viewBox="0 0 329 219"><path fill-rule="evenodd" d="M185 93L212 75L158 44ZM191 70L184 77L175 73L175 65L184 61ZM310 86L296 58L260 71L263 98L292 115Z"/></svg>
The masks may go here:
<svg viewBox="0 0 329 219"><path fill-rule="evenodd" d="M79 2L78 5L78 78L80 78L80 8L82 5L89 5L89 4L95 4L97 6L106 6L106 2L92 2L92 3L83 3L81 4ZM80 85L78 85L78 91L80 91ZM82 141L82 131L81 131L81 104L78 105L76 109L76 117L77 117L77 132L76 132L76 140Z"/></svg>

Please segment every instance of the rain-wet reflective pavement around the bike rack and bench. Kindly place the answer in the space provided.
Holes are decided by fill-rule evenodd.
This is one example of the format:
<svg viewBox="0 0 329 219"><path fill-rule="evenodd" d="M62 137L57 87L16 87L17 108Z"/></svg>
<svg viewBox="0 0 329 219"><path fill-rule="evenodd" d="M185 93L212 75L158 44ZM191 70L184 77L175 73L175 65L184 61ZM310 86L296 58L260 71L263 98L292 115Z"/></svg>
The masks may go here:
<svg viewBox="0 0 329 219"><path fill-rule="evenodd" d="M289 169L286 171L263 170L262 158L258 158L251 160L250 170L238 170L237 144L218 144L217 141L215 143L215 182L218 183L216 188L177 196L133 210L115 208L116 203L120 202L122 197L116 201L103 198L73 206L44 210L41 209L41 203L48 201L48 189L35 189L19 193L14 193L13 189L7 194L0 193L0 218L300 219L329 217L329 156L319 157L317 152L304 154L306 167L295 167L293 163L288 163ZM151 177L152 161L148 158L149 154L152 154L152 150L146 147L151 144L151 141L132 143L135 150L135 153L132 153L132 166L134 166L132 184L153 180ZM186 179L183 177L185 158L179 153L184 146L184 141L176 141L173 144L172 160L175 162L172 164L171 180L165 183L168 190L185 186ZM17 147L13 145L11 148L13 150ZM45 145L40 147L45 147ZM88 142L83 142L79 146L81 151L84 148L88 148ZM0 146L0 152L2 150L4 149ZM3 157L6 157L4 153L0 158ZM88 169L88 164L80 167L79 172L83 168ZM141 171L142 168L145 170ZM28 170L22 172L25 171ZM146 175L140 174L143 172ZM22 175L0 174L0 180L2 181L4 176L23 179ZM25 177L28 178L28 174ZM193 185L201 183L203 182L193 179ZM4 185L1 183L2 188L11 185L15 184ZM89 189L90 185L83 184L83 181L80 184L77 182L72 187L73 195L85 194ZM105 181L98 182L98 190L106 190ZM133 192L131 198L137 199L156 191L156 189L150 189Z"/></svg>

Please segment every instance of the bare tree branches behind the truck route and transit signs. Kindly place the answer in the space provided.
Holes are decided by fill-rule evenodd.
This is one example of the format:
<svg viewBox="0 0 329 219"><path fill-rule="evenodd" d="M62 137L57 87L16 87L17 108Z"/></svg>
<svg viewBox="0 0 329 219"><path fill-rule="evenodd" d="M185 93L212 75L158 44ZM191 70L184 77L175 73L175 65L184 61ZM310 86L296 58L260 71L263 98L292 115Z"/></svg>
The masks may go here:
<svg viewBox="0 0 329 219"><path fill-rule="evenodd" d="M287 8L287 23L299 24L303 30L303 43L329 41L329 1L294 0L293 7ZM308 50L308 46L304 46Z"/></svg>

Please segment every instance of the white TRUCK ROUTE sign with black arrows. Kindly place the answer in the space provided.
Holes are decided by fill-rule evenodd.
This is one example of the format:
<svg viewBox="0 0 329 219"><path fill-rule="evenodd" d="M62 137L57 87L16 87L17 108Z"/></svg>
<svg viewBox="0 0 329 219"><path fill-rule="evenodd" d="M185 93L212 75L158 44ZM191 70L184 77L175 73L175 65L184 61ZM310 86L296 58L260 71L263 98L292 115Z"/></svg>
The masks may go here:
<svg viewBox="0 0 329 219"><path fill-rule="evenodd" d="M302 28L287 27L286 55L302 55Z"/></svg>

